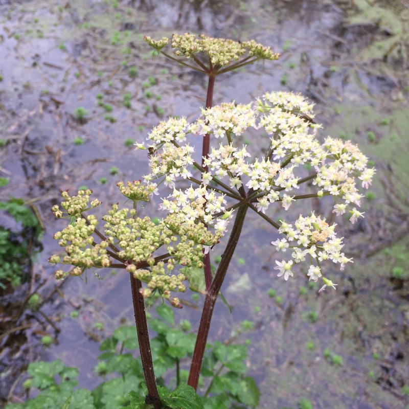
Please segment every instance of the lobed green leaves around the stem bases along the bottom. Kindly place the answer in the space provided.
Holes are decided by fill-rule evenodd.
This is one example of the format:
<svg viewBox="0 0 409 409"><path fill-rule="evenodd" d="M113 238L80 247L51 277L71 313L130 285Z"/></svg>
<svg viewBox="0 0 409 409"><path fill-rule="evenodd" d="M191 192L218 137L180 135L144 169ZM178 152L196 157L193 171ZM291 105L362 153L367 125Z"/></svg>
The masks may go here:
<svg viewBox="0 0 409 409"><path fill-rule="evenodd" d="M256 407L259 390L253 378L246 376L244 345L208 344L203 359L201 396L186 382L188 370L180 362L191 357L195 334L191 325L182 321L175 326L173 309L167 305L156 307L159 318L149 319L150 328L157 333L151 341L152 359L158 391L164 408L170 409L229 409ZM38 393L24 403L8 404L6 409L147 409L140 358L132 352L138 349L134 327L122 326L100 345L101 355L95 372L104 381L93 391L77 389L77 368L65 367L57 359L53 362L33 362L24 387ZM187 361L186 361L187 362ZM165 387L165 380L168 387Z"/></svg>

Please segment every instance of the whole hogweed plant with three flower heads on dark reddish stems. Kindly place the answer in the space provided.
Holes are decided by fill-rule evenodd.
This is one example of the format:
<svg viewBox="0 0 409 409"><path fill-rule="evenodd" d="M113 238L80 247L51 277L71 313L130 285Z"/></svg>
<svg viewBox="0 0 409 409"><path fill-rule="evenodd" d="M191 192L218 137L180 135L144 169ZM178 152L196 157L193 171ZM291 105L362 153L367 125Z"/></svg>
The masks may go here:
<svg viewBox="0 0 409 409"><path fill-rule="evenodd" d="M352 262L342 252L343 238L337 237L336 224L314 212L300 215L292 223L276 222L268 216L269 211L277 206L288 210L306 198L332 196L334 216L349 213L354 223L363 214L357 210L362 197L357 185L368 188L375 171L367 167L367 157L351 142L330 137L319 142L321 125L313 120L313 104L301 95L271 92L246 105L229 102L213 106L216 76L248 64L277 60L279 54L269 47L255 41L205 35L197 38L193 34L174 34L171 40L158 41L145 37L145 41L157 54L209 77L206 107L197 121L170 118L149 133L147 143L136 144L137 149L147 150L150 172L143 181L118 183L133 205L131 209L112 205L102 217L103 232L97 229L96 217L89 214L101 205L97 199L89 203L91 191L79 191L75 196L62 192L62 210L55 206L52 211L56 217L67 215L73 222L55 234L65 248L65 257L56 255L50 262L73 266L69 271L58 270L58 279L79 276L88 268L114 267L129 272L148 390L141 402L158 409L169 406L169 399L164 403L156 387L144 299L158 293L181 308L172 293L186 290L193 271L202 271L205 276L206 299L188 378L191 391L196 390L213 308L247 211L256 212L282 235L271 242L272 251L283 252L283 259L276 261L278 277L288 280L296 264L308 263L307 276L314 282L322 281L320 291L335 289L336 284L324 276L324 262L338 264L341 270ZM175 56L163 51L169 42ZM238 144L240 135L251 128L268 135L261 157L253 157L246 146ZM194 159L198 142L200 163ZM307 175L305 169L312 171ZM180 188L189 184L187 189ZM164 217L158 223L140 216L140 202L149 201L153 194L162 198L159 208ZM225 234L228 243L212 277L211 250ZM184 391L189 391L186 385ZM132 407L139 407L133 402Z"/></svg>

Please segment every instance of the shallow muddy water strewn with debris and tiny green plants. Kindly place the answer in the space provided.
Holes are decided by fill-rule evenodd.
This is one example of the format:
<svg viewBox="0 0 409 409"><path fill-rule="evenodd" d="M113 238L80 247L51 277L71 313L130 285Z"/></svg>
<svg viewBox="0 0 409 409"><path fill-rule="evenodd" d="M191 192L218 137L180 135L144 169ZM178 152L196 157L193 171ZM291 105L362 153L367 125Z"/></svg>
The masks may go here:
<svg viewBox="0 0 409 409"><path fill-rule="evenodd" d="M27 328L2 344L2 399L21 396L19 371L38 358L60 357L79 366L80 384L94 387L96 341L131 320L130 290L121 271L102 271L103 280L90 274L87 283L55 283L47 259L58 251L52 236L64 222L54 220L49 209L59 189L83 186L106 204L120 201L116 181L147 169L147 158L125 146L127 139L141 142L167 116L196 118L205 78L153 58L142 41L143 35L189 31L253 38L282 52L278 62L218 78L215 103L246 103L277 89L301 92L316 103L323 137L359 143L378 169L373 194L363 202L364 221L352 227L339 222L354 265L342 274L330 270L339 284L336 293L318 296L302 275L286 283L275 277L276 255L268 244L275 233L249 215L224 287L233 313L217 306L212 340L231 337L243 317L259 323L248 335L248 366L262 391L261 407L297 407L301 398L314 408L408 405L409 13L402 5L0 2L0 134L7 141L0 148L0 176L10 178L0 195L31 200L46 226L33 279L15 297L24 299L41 286L47 301L41 313L22 314L18 325ZM87 110L82 124L74 117L78 107ZM262 148L255 136L247 142L254 152ZM317 204L294 212L311 206ZM325 203L317 210L328 212ZM145 211L154 212L155 203ZM403 268L402 279L392 278L395 267ZM269 298L267 288L281 299ZM77 318L70 316L74 310ZM180 318L185 316L197 322L199 315L185 308ZM44 334L54 339L48 349L38 346ZM331 365L325 350L342 357L343 365Z"/></svg>

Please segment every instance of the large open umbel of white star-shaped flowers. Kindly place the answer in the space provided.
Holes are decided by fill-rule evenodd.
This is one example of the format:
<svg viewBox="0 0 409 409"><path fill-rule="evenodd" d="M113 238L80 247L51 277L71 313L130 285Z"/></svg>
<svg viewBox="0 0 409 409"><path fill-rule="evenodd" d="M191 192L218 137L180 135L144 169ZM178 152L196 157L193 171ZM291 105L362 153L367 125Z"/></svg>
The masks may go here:
<svg viewBox="0 0 409 409"><path fill-rule="evenodd" d="M367 168L368 158L350 141L327 137L320 143L316 133L321 125L314 122L312 107L313 104L298 94L267 93L256 103L224 103L202 109L201 117L193 124L185 118L162 122L148 137L151 171L145 176L147 182L155 180L158 186L163 182L173 191L163 199L160 208L183 214L189 223L201 220L218 235L223 235L234 207L228 205L228 197L222 192L238 198L243 192L240 189L244 188L261 214L266 214L274 202L281 202L288 210L305 196L331 195L335 200L333 213L340 216L350 212L350 221L354 223L363 215L357 210L362 197L356 186L357 178L362 187L368 188L375 170ZM269 135L269 146L263 157L251 157L246 146L239 147L236 142L250 127L264 128ZM210 133L220 141L211 147L208 157L203 158L203 166L208 171L202 172L200 177L196 176L197 169L193 166L194 148L186 141L189 133L199 137ZM302 184L306 165L315 171L307 178L315 189L312 188L311 194L302 195L298 192L301 186L305 188ZM177 189L183 179L198 185ZM213 190L212 183L222 188ZM279 276L288 280L293 264L306 258L311 262L308 277L313 281L322 277L320 263L324 260L339 263L344 269L352 260L342 253L343 239L336 237L335 225L328 225L325 219L314 214L300 215L294 225L283 221L279 232L285 239L272 244L279 251L291 246L292 259L277 262Z"/></svg>

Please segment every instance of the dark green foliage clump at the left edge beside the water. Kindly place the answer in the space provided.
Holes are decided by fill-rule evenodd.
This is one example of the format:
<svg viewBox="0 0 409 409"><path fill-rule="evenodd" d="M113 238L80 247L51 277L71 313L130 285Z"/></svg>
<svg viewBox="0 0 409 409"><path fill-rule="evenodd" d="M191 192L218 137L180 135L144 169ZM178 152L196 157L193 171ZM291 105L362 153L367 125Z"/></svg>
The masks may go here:
<svg viewBox="0 0 409 409"><path fill-rule="evenodd" d="M7 212L20 224L14 230L0 225L0 288L5 288L7 284L15 287L29 279L33 248L30 249L28 237L37 239L41 227L31 209L24 206L22 199L0 201L0 210Z"/></svg>

